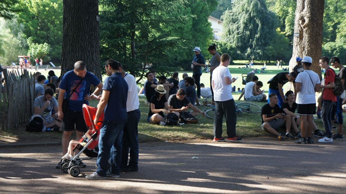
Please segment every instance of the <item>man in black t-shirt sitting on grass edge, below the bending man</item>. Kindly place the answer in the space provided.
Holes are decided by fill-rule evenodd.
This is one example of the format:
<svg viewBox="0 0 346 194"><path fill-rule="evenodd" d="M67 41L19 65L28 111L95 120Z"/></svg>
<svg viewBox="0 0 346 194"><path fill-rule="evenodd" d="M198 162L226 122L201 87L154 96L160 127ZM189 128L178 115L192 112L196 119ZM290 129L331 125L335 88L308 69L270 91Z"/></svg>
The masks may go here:
<svg viewBox="0 0 346 194"><path fill-rule="evenodd" d="M282 138L295 139L296 137L291 135L291 115L283 113L278 105L278 97L275 93L269 95L269 103L265 104L261 110L262 125L261 128L278 137L278 140ZM282 136L277 131L282 127L286 127L286 135Z"/></svg>

